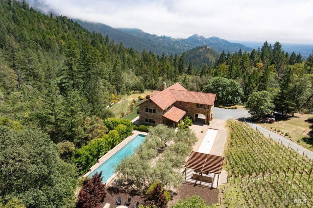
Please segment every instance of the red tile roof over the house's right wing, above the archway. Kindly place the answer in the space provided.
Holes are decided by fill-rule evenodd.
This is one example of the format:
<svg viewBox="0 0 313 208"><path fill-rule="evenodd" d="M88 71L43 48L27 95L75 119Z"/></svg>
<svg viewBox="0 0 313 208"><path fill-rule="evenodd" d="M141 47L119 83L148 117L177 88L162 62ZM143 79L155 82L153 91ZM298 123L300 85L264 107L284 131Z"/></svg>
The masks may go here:
<svg viewBox="0 0 313 208"><path fill-rule="evenodd" d="M175 89L171 89L170 91L177 101L182 102L214 105L214 101L216 100L216 94L212 93L184 91Z"/></svg>

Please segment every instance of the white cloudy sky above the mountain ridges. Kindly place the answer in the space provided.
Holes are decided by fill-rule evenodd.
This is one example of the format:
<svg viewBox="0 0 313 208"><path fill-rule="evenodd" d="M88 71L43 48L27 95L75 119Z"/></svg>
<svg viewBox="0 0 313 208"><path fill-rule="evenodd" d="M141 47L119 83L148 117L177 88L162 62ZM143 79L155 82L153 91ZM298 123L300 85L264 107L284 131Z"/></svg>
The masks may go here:
<svg viewBox="0 0 313 208"><path fill-rule="evenodd" d="M29 0L45 12L186 38L313 44L313 0Z"/></svg>

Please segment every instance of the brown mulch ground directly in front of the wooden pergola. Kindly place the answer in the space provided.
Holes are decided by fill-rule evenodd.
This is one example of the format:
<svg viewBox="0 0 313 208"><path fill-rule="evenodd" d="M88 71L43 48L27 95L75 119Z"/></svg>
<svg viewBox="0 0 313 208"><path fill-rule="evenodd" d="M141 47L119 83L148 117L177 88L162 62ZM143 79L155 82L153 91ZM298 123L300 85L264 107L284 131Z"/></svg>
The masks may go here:
<svg viewBox="0 0 313 208"><path fill-rule="evenodd" d="M179 199L184 199L186 196L194 195L201 196L208 205L211 203L218 203L218 189L210 189L202 186L194 186L193 184L189 183L183 183L181 186L179 186L169 204L176 204Z"/></svg>

